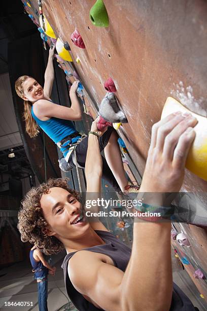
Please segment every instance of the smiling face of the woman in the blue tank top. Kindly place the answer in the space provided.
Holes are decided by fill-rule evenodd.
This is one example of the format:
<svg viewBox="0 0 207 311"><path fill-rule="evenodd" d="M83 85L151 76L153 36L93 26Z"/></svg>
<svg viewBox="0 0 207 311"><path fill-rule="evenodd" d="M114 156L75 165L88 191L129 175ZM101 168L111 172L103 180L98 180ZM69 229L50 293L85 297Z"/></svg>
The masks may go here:
<svg viewBox="0 0 207 311"><path fill-rule="evenodd" d="M44 99L44 91L42 86L33 78L28 78L22 83L24 96L22 99L31 103Z"/></svg>

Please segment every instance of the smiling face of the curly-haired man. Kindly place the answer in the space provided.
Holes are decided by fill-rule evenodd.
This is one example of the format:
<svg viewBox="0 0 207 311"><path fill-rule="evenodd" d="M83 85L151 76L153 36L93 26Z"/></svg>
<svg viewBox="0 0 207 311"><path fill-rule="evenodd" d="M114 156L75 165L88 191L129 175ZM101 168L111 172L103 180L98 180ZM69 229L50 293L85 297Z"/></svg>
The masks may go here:
<svg viewBox="0 0 207 311"><path fill-rule="evenodd" d="M81 203L65 189L50 188L40 203L50 226L48 235L56 236L63 244L65 239L81 238L89 229Z"/></svg>

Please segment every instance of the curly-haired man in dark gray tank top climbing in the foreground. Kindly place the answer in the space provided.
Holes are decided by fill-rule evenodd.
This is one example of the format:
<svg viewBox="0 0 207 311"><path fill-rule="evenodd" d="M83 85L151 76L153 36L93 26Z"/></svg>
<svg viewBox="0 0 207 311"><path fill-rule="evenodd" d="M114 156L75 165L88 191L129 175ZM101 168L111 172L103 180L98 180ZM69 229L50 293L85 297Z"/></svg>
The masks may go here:
<svg viewBox="0 0 207 311"><path fill-rule="evenodd" d="M139 194L150 192L145 203L162 206L163 193L179 192L196 122L191 115L178 112L153 126ZM101 135L96 123L92 123L91 132ZM94 153L96 157L92 157ZM99 198L101 174L98 136L91 133L86 179L87 195L92 193L93 199ZM135 218L130 250L98 219L85 220L78 193L62 179L32 188L22 201L18 218L22 241L34 243L46 254L65 248L65 287L78 310L195 310L172 283L170 222L139 222Z"/></svg>

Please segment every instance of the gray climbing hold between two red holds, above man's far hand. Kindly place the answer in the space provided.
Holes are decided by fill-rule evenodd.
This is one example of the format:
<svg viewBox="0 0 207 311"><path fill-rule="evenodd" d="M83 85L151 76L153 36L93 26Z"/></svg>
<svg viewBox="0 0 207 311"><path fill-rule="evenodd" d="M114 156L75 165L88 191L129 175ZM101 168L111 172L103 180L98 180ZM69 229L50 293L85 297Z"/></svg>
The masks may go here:
<svg viewBox="0 0 207 311"><path fill-rule="evenodd" d="M107 92L99 106L99 114L103 119L112 123L127 123L127 118L120 110L114 93Z"/></svg>

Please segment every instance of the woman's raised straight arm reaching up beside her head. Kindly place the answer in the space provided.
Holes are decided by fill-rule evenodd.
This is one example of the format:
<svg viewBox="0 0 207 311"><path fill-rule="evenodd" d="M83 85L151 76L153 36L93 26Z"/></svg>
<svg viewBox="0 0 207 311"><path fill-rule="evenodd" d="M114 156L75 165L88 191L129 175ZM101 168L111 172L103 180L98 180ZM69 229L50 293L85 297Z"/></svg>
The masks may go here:
<svg viewBox="0 0 207 311"><path fill-rule="evenodd" d="M53 68L53 58L54 58L55 45L49 50L48 64L45 70L45 84L44 84L44 95L50 98L52 85L54 81L54 68Z"/></svg>

